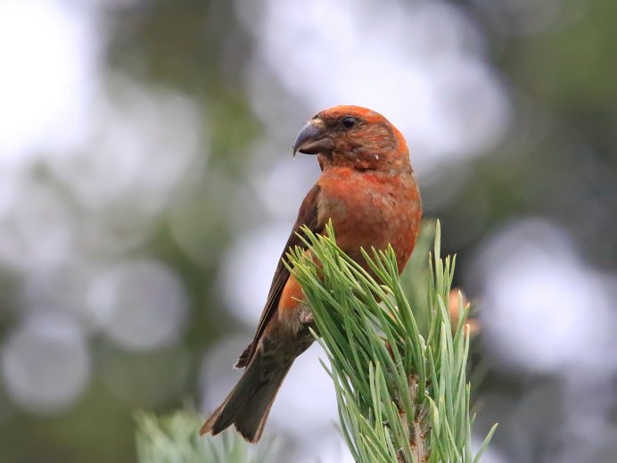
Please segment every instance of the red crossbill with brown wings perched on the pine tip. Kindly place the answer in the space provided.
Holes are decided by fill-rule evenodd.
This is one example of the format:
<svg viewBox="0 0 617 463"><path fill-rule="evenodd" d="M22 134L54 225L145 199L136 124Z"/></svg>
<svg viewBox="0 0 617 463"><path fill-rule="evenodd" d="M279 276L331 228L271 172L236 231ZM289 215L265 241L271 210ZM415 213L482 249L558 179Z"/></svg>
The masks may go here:
<svg viewBox="0 0 617 463"><path fill-rule="evenodd" d="M369 272L362 248L385 250L390 244L399 272L414 249L422 201L405 137L389 120L351 105L317 112L293 144L293 156L297 153L317 155L321 175L300 205L255 336L235 364L245 368L243 376L201 435L234 426L246 441L259 441L284 377L314 341L310 309L285 266L296 246L310 252L297 235L301 227L323 234L331 220L336 244Z"/></svg>

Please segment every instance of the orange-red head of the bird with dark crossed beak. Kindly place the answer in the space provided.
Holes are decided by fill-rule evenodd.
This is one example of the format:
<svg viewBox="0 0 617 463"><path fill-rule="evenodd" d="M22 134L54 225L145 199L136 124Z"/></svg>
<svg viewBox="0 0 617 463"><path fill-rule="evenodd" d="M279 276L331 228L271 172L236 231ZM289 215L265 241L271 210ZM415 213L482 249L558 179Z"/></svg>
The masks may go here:
<svg viewBox="0 0 617 463"><path fill-rule="evenodd" d="M322 169L398 170L409 166L405 138L381 114L359 106L334 106L313 116L293 145L293 154L317 154Z"/></svg>

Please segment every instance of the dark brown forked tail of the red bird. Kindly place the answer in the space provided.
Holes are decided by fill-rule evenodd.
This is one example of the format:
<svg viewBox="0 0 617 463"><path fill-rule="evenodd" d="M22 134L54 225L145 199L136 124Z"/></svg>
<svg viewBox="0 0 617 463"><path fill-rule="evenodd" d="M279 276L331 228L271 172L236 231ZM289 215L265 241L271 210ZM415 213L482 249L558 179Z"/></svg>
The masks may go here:
<svg viewBox="0 0 617 463"><path fill-rule="evenodd" d="M272 402L293 363L293 359L264 360L258 349L234 390L202 426L201 435L218 434L234 425L247 441L259 441Z"/></svg>

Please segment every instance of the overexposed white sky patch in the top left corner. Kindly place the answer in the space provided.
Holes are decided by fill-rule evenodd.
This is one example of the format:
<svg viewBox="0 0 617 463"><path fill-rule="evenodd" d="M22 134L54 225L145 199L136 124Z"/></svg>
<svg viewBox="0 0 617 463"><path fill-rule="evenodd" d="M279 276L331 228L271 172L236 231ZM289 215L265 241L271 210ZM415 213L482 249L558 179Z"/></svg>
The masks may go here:
<svg viewBox="0 0 617 463"><path fill-rule="evenodd" d="M69 2L0 2L0 167L83 133L100 45L85 13Z"/></svg>

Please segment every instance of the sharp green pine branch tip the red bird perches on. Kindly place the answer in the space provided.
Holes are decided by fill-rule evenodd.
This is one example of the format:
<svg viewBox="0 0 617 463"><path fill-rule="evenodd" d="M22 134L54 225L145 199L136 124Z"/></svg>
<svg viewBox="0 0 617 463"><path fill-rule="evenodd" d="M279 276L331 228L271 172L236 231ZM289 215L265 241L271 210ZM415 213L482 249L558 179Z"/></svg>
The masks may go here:
<svg viewBox="0 0 617 463"><path fill-rule="evenodd" d="M455 260L439 257L439 223L422 334L415 318L421 308L412 310L391 248L365 252L374 278L336 246L331 225L327 236L308 229L303 234L311 252L291 252L290 269L330 360L324 367L333 378L342 432L354 459L478 461L495 427L473 457L466 379L469 307L459 296L452 327L447 303Z"/></svg>

